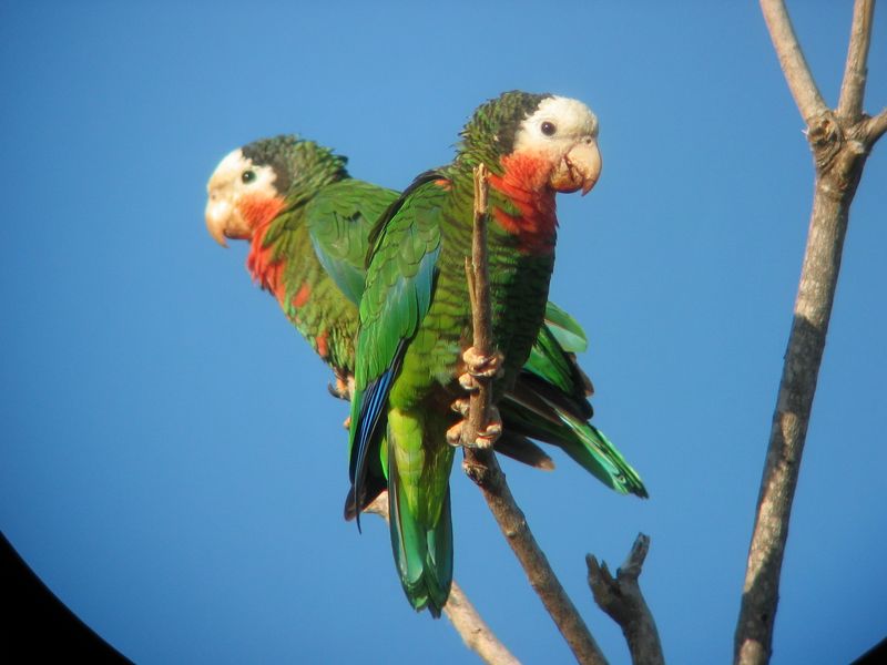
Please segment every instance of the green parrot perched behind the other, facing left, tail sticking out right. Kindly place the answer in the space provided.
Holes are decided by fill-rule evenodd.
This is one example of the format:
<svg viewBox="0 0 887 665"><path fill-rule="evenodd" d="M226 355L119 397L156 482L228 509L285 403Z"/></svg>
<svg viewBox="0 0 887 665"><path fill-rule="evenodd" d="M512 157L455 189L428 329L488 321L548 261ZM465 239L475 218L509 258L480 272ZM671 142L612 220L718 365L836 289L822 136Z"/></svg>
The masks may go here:
<svg viewBox="0 0 887 665"><path fill-rule="evenodd" d="M293 135L264 139L226 155L207 185L206 225L221 245L249 242L247 268L333 369L337 397L354 379L357 303L373 223L399 194L359 180L347 158ZM499 403L504 431L496 450L526 464L553 462L529 439L555 444L604 484L646 497L638 473L597 428L591 382L575 364L582 328L552 303L514 390ZM360 508L385 489L378 483ZM353 494L346 516L354 518Z"/></svg>

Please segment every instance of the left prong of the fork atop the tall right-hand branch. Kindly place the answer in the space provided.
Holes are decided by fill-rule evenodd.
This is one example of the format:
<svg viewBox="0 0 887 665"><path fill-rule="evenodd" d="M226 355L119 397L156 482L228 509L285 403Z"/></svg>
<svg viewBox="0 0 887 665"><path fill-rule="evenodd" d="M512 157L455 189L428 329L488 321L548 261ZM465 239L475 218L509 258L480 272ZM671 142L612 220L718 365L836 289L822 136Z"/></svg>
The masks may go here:
<svg viewBox="0 0 887 665"><path fill-rule="evenodd" d="M801 111L801 116L809 124L812 119L825 113L828 108L810 75L807 61L797 43L792 20L782 0L761 0L764 20L767 22L773 47L788 82L788 89Z"/></svg>

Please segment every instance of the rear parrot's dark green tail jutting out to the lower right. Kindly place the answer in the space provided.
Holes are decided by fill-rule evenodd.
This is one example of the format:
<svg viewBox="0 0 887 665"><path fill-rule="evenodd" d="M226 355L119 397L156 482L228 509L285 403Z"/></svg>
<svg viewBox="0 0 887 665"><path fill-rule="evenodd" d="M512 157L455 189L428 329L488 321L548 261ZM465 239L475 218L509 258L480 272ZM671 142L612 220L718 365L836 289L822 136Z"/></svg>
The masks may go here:
<svg viewBox="0 0 887 665"><path fill-rule="evenodd" d="M606 487L621 494L648 498L641 477L598 428L540 396L508 395L499 411L504 428L552 443Z"/></svg>

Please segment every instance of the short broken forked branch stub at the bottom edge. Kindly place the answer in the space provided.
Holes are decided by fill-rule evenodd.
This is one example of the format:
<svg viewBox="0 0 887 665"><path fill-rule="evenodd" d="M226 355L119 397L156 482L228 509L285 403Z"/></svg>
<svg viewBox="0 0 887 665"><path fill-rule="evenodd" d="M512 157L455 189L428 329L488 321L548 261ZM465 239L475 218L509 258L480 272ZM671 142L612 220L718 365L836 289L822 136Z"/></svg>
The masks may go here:
<svg viewBox="0 0 887 665"><path fill-rule="evenodd" d="M594 602L622 628L632 663L665 665L656 623L638 582L649 550L650 536L639 533L625 562L616 570L615 580L606 563L599 565L593 555L587 554L589 586Z"/></svg>

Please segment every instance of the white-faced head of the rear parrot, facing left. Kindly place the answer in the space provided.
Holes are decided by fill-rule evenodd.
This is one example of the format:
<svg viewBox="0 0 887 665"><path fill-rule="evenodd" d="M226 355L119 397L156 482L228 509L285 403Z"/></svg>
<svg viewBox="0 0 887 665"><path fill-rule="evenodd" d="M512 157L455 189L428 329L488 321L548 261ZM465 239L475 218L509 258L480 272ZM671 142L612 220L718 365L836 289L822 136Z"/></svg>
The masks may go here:
<svg viewBox="0 0 887 665"><path fill-rule="evenodd" d="M251 239L281 212L310 198L318 187L347 177L346 158L293 135L255 141L228 153L206 185L206 228Z"/></svg>

